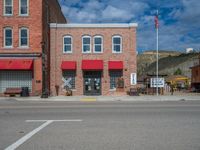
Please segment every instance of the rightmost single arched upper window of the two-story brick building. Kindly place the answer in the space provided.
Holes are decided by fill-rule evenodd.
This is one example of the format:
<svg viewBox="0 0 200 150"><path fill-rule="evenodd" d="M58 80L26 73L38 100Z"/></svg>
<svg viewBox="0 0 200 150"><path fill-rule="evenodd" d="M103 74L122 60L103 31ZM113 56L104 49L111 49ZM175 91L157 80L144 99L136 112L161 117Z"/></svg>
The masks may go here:
<svg viewBox="0 0 200 150"><path fill-rule="evenodd" d="M112 52L113 53L122 52L122 37L121 36L112 37Z"/></svg>

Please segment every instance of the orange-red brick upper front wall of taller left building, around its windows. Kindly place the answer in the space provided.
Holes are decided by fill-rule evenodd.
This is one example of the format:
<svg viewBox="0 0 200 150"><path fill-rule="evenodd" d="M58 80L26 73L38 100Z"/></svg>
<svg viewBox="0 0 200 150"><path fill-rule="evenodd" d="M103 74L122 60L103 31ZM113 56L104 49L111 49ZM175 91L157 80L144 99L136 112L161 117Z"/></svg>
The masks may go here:
<svg viewBox="0 0 200 150"><path fill-rule="evenodd" d="M42 3L41 0L29 0L29 16L19 16L19 1L13 0L13 16L3 16L3 0L0 1L0 52L1 53L33 53L41 52L41 36L42 36ZM10 26L13 28L13 49L3 48L3 28ZM29 48L20 49L19 47L19 28L25 26L29 28Z"/></svg>

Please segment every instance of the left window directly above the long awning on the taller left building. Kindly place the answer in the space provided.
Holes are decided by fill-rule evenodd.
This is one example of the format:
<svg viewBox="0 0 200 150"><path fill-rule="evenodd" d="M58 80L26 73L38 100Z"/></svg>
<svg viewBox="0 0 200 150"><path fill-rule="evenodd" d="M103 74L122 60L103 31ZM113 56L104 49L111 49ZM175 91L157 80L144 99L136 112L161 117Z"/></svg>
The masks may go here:
<svg viewBox="0 0 200 150"><path fill-rule="evenodd" d="M12 39L12 28L6 27L4 29L4 47L12 47L13 39Z"/></svg>

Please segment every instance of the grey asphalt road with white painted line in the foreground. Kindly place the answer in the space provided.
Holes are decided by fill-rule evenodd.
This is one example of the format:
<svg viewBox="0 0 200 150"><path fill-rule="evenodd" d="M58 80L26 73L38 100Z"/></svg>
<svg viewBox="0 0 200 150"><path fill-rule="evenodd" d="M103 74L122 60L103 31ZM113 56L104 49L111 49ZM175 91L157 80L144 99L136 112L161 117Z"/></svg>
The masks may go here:
<svg viewBox="0 0 200 150"><path fill-rule="evenodd" d="M12 144L19 150L200 150L200 102L1 100L0 149Z"/></svg>

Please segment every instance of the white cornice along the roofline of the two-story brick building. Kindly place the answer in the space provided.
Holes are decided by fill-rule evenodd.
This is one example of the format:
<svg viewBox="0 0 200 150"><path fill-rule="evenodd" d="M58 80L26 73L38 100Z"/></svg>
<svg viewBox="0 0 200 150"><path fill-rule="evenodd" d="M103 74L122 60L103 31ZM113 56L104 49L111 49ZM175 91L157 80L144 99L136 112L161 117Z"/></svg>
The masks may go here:
<svg viewBox="0 0 200 150"><path fill-rule="evenodd" d="M113 24L56 24L51 23L50 28L130 28L138 27L137 23L113 23Z"/></svg>

